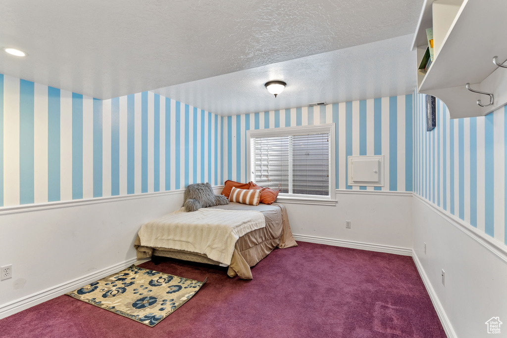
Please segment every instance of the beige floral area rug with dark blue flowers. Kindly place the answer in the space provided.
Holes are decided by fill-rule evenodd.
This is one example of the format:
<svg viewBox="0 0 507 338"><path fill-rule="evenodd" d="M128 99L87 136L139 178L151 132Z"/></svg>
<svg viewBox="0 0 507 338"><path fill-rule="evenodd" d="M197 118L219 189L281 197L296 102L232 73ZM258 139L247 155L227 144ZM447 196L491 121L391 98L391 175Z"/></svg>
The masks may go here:
<svg viewBox="0 0 507 338"><path fill-rule="evenodd" d="M132 265L66 294L153 327L191 299L206 280L200 282Z"/></svg>

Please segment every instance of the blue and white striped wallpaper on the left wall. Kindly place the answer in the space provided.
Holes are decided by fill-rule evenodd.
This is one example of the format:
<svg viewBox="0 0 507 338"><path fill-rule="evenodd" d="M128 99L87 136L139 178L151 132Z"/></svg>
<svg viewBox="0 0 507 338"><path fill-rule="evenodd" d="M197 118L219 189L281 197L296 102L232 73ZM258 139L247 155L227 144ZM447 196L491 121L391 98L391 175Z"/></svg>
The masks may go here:
<svg viewBox="0 0 507 338"><path fill-rule="evenodd" d="M0 74L0 206L221 184L221 120L152 92L101 101Z"/></svg>

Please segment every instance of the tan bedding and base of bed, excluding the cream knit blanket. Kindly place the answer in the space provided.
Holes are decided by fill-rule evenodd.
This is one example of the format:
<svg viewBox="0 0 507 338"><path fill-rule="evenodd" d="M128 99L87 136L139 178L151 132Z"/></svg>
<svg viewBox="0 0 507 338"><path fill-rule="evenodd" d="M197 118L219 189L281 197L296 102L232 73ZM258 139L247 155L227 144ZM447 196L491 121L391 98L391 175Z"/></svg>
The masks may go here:
<svg viewBox="0 0 507 338"><path fill-rule="evenodd" d="M268 256L274 248L287 248L298 245L292 235L287 210L283 204L246 205L231 202L230 204L209 208L258 211L264 215L266 220L264 228L250 231L236 241L231 264L227 272L230 277L238 276L241 279L252 279L250 268ZM138 259L158 256L224 266L220 262L211 260L206 255L197 252L143 246L139 236L137 236L134 244Z"/></svg>

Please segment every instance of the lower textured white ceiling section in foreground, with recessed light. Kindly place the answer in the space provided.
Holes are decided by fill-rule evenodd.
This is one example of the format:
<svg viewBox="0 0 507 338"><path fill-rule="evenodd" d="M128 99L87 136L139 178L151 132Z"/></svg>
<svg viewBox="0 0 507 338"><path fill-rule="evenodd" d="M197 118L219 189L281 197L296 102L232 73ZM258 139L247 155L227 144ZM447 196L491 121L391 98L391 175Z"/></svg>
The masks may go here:
<svg viewBox="0 0 507 338"><path fill-rule="evenodd" d="M412 33L421 3L3 0L0 47L29 55L0 72L107 99Z"/></svg>

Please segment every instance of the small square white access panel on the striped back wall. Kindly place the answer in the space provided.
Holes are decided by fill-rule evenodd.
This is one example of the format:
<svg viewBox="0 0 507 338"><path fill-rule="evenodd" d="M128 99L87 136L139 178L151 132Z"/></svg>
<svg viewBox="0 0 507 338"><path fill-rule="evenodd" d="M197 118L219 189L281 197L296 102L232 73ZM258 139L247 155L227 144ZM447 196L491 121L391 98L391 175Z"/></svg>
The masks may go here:
<svg viewBox="0 0 507 338"><path fill-rule="evenodd" d="M348 185L384 186L384 155L349 156Z"/></svg>

